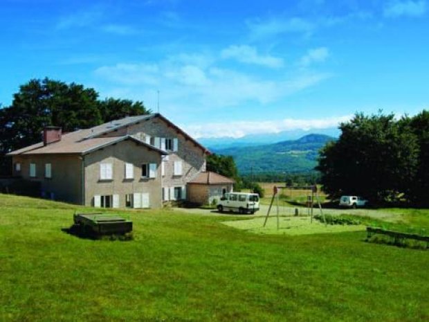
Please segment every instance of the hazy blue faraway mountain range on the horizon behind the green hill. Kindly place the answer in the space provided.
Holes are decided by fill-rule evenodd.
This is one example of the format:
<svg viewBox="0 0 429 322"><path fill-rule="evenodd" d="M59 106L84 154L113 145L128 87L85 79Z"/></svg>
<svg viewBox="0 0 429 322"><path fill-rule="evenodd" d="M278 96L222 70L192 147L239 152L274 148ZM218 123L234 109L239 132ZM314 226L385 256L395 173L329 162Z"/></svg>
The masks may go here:
<svg viewBox="0 0 429 322"><path fill-rule="evenodd" d="M297 129L294 131L284 131L279 133L268 133L268 134L251 134L241 138L222 137L222 138L199 138L198 141L210 150L225 149L227 147L244 147L244 146L255 146L272 144L281 141L297 140L302 136L313 134L311 130L305 131L304 129ZM340 130L337 128L320 129L318 134L325 134L327 136L338 137L340 136Z"/></svg>

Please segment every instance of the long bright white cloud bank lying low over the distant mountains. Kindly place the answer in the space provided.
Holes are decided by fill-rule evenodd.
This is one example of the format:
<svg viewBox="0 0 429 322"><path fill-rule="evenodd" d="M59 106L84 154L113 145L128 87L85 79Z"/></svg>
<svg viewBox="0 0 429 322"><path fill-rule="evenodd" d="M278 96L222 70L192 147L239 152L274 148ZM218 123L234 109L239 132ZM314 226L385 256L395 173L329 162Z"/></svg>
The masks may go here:
<svg viewBox="0 0 429 322"><path fill-rule="evenodd" d="M219 123L204 123L203 125L188 125L185 131L194 138L240 138L249 134L279 133L296 129L328 129L337 127L339 123L350 120L352 115L337 116L331 118L295 119L284 118L282 120L256 120L256 121L232 121Z"/></svg>

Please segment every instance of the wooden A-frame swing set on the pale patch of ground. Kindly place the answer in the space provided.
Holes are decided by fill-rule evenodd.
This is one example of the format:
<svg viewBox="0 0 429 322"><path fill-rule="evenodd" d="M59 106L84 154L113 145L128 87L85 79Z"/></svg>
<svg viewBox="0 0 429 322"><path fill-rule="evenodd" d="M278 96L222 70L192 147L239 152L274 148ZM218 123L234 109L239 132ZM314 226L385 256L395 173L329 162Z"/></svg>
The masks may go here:
<svg viewBox="0 0 429 322"><path fill-rule="evenodd" d="M323 222L325 222L325 226L327 226L327 222L325 219L325 214L322 211L322 205L320 204L320 198L319 198L319 194L318 194L318 187L316 185L313 186L295 186L295 187L288 187L288 186L274 186L273 187L273 197L271 197L271 203L270 206L268 208L268 212L266 213L265 216L265 221L264 221L264 227L266 226L266 222L268 221L268 217L270 215L271 212L271 208L273 207L274 204L274 200L276 201L276 208L277 208L277 230L280 229L280 208L279 208L279 190L284 190L284 189L300 189L300 190L309 190L311 191L311 195L307 194L307 213L308 215L310 215L310 223L313 223L313 204L314 201L316 199L318 207L320 209L320 215L322 215L323 218ZM295 208L295 216L298 215L298 208Z"/></svg>

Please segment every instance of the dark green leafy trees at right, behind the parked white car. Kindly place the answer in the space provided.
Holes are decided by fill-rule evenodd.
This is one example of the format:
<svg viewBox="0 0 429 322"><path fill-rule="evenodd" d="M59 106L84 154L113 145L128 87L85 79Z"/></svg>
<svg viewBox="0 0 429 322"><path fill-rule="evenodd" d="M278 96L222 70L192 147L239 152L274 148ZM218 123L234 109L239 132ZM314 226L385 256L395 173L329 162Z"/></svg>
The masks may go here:
<svg viewBox="0 0 429 322"><path fill-rule="evenodd" d="M340 129L338 141L321 150L316 167L331 197L429 203L429 111L399 120L381 112L356 114Z"/></svg>

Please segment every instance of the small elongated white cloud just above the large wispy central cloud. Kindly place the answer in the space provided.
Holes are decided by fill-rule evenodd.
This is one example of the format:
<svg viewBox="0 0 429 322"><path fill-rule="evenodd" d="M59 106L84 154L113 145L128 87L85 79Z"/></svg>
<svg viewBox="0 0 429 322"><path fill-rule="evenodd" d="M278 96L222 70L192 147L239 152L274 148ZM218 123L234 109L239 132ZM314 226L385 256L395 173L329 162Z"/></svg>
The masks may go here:
<svg viewBox="0 0 429 322"><path fill-rule="evenodd" d="M247 45L232 45L221 51L222 58L232 58L246 64L257 64L271 68L279 68L284 65L282 58L271 55L259 55L255 47Z"/></svg>

